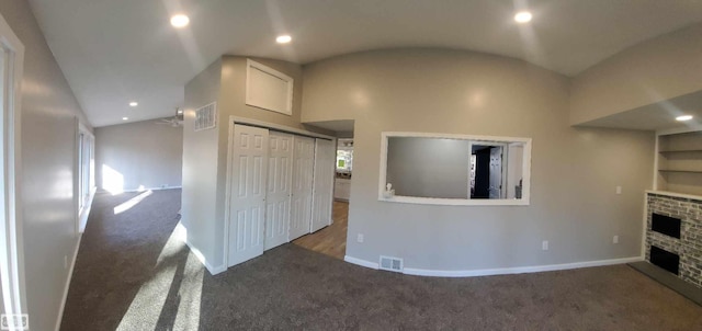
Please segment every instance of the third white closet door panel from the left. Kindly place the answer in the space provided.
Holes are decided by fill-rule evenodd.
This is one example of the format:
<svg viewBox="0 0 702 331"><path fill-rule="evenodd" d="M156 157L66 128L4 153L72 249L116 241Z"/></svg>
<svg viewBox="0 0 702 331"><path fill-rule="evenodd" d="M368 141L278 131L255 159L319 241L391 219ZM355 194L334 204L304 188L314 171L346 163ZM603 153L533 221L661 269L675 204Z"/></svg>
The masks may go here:
<svg viewBox="0 0 702 331"><path fill-rule="evenodd" d="M295 136L293 138L293 195L288 240L309 233L312 221L313 171L315 161L315 139Z"/></svg>

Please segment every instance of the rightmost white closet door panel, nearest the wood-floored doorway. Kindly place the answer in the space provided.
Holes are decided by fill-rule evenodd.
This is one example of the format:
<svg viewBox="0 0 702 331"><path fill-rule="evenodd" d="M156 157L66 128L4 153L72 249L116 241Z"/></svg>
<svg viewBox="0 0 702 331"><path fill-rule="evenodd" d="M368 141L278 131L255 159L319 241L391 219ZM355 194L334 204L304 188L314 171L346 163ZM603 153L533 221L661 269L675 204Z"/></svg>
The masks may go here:
<svg viewBox="0 0 702 331"><path fill-rule="evenodd" d="M336 148L331 140L316 139L312 228L315 232L331 224Z"/></svg>

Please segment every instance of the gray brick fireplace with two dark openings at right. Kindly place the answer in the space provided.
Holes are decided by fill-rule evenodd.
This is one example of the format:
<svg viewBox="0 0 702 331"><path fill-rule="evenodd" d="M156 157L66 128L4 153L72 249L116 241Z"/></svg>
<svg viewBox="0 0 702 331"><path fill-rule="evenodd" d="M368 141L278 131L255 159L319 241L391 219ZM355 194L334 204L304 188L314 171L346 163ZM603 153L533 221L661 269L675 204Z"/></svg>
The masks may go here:
<svg viewBox="0 0 702 331"><path fill-rule="evenodd" d="M702 288L702 197L650 191L646 215L646 261Z"/></svg>

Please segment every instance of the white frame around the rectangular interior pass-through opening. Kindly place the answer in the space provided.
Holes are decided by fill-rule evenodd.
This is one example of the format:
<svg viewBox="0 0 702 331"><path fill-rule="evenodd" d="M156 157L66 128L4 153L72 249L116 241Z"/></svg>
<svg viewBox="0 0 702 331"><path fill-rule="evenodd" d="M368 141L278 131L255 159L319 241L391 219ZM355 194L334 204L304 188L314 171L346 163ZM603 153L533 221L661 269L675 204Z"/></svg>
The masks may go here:
<svg viewBox="0 0 702 331"><path fill-rule="evenodd" d="M524 144L524 156L522 160L522 197L521 198L438 198L438 197L418 197L385 194L387 183L387 141L390 137L412 137L412 138L438 138L438 139L461 139L471 140L477 145L485 142L490 145L495 142ZM467 151L466 151L467 152ZM469 170L468 170L469 171ZM469 176L468 176L469 178ZM407 132L383 132L381 133L381 173L377 184L377 199L392 203L420 204L420 205L449 205L449 206L528 206L530 204L531 192L531 138L518 137L492 137L492 136L471 136L471 135L452 135L452 134L434 134L434 133L407 133Z"/></svg>

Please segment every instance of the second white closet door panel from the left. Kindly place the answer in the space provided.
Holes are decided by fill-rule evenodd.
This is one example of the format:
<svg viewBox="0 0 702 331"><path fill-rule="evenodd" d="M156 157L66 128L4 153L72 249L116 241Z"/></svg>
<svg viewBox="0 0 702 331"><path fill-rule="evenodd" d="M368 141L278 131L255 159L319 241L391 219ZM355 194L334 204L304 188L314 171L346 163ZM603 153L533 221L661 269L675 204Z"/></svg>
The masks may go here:
<svg viewBox="0 0 702 331"><path fill-rule="evenodd" d="M270 132L264 249L287 242L293 173L293 136Z"/></svg>

